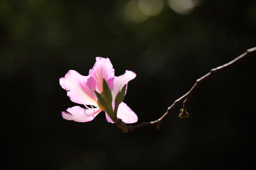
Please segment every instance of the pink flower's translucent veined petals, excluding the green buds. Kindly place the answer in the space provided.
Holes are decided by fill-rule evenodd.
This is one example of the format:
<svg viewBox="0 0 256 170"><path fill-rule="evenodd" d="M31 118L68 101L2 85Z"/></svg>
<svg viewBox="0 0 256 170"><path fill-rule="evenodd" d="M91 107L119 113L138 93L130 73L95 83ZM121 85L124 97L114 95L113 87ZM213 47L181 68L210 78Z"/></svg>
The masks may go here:
<svg viewBox="0 0 256 170"><path fill-rule="evenodd" d="M112 106L115 105L115 98L121 88L136 77L132 71L125 71L121 76L114 75L114 69L110 59L101 57L96 58L96 62L89 71L88 76L82 76L74 70L69 70L67 74L60 78L60 85L67 91L67 96L75 103L83 104L86 109L80 106L68 108L67 112L62 112L62 117L67 120L77 122L87 122L95 118L102 110L97 105L97 96L94 91L101 93L103 90L103 78L106 80L111 94ZM114 123L106 114L108 122ZM121 102L117 111L117 118L125 123L137 122L137 115L126 103Z"/></svg>

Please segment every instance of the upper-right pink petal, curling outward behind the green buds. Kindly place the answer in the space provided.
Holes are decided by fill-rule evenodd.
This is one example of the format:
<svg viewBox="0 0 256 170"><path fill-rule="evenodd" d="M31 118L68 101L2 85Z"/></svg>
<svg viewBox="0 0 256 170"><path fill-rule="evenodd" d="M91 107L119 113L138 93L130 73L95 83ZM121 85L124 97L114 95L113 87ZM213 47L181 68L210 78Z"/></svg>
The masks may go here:
<svg viewBox="0 0 256 170"><path fill-rule="evenodd" d="M128 82L136 77L136 74L133 71L126 70L125 74L121 76L115 76L113 78L110 78L108 81L108 85L110 87L113 101L115 101L117 93L121 90L121 88L128 84ZM127 89L127 86L126 86Z"/></svg>

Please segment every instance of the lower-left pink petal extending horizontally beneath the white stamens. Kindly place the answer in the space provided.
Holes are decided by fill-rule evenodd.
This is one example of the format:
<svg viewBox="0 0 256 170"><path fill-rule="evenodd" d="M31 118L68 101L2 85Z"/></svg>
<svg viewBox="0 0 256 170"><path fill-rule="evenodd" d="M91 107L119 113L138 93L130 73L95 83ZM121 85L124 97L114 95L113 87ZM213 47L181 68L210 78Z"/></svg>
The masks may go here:
<svg viewBox="0 0 256 170"><path fill-rule="evenodd" d="M76 122L88 122L95 118L100 112L101 109L83 109L80 106L74 106L72 108L68 108L69 112L62 112L62 117L66 120L73 120Z"/></svg>

